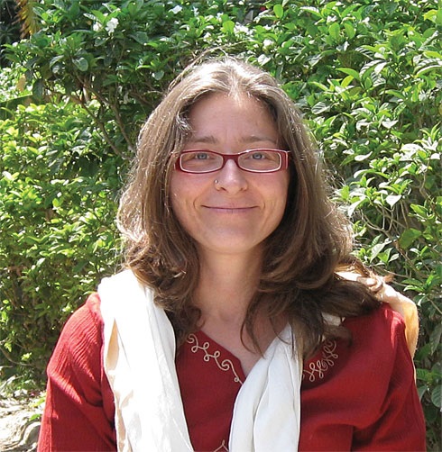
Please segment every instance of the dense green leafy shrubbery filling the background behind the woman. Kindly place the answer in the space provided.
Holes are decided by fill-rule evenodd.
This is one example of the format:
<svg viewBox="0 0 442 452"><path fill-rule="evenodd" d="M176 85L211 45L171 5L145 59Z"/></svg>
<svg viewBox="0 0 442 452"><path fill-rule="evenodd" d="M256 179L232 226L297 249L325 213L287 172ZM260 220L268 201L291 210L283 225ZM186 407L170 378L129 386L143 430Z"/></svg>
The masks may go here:
<svg viewBox="0 0 442 452"><path fill-rule="evenodd" d="M418 304L428 450L442 449L437 1L21 5L22 40L0 22L4 378L42 381L62 323L118 267L118 193L161 92L203 54L239 55L299 104L355 222L358 256Z"/></svg>

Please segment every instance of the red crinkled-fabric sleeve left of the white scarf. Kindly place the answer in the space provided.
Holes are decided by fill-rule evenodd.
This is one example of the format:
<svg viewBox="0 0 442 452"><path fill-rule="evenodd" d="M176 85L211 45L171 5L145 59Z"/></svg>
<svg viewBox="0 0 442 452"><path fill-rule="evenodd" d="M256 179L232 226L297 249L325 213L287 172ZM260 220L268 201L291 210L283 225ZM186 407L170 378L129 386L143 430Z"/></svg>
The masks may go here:
<svg viewBox="0 0 442 452"><path fill-rule="evenodd" d="M97 294L66 323L48 365L39 452L116 450L114 401L102 366Z"/></svg>

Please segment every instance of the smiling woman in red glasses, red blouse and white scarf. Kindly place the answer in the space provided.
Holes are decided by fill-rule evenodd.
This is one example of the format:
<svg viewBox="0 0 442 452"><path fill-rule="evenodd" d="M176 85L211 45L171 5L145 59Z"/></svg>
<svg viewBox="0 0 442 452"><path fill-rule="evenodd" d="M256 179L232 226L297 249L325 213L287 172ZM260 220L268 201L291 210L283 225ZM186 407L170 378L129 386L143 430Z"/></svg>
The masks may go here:
<svg viewBox="0 0 442 452"><path fill-rule="evenodd" d="M39 449L424 450L404 322L351 280L326 190L272 77L186 71L140 136L127 269L51 357Z"/></svg>

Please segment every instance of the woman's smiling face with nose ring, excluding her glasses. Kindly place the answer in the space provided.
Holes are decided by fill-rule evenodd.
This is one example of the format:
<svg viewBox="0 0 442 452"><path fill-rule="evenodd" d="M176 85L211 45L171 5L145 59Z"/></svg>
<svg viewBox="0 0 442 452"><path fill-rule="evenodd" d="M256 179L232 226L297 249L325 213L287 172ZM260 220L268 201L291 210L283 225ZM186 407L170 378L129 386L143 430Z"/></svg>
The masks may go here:
<svg viewBox="0 0 442 452"><path fill-rule="evenodd" d="M245 149L279 149L272 116L260 101L245 95L209 95L193 105L189 122L192 134L183 150L236 154ZM171 205L196 241L198 253L254 253L280 224L289 179L288 169L251 173L232 159L207 174L174 170Z"/></svg>

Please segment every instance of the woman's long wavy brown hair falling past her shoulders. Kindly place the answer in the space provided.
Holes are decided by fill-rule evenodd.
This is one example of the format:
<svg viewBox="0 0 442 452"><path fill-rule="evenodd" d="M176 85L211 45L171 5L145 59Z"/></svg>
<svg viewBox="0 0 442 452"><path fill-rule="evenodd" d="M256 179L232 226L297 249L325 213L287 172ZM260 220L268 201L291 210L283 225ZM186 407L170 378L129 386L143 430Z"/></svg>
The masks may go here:
<svg viewBox="0 0 442 452"><path fill-rule="evenodd" d="M291 152L290 187L279 227L266 240L261 282L244 329L254 335L258 312L271 320L284 314L305 355L324 337L342 331L324 314L348 317L379 303L364 285L336 275L340 267L364 267L352 258L351 228L327 196L324 171L299 113L273 77L243 61L226 58L188 68L170 86L140 133L131 179L122 196L119 227L126 239L126 267L152 287L170 317L178 343L198 329L192 303L198 285L198 253L170 206L170 175L189 134L189 109L212 93L248 95L266 105L281 142ZM342 329L341 329L342 330Z"/></svg>

